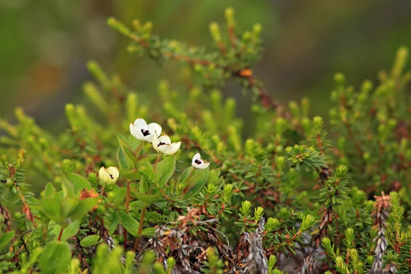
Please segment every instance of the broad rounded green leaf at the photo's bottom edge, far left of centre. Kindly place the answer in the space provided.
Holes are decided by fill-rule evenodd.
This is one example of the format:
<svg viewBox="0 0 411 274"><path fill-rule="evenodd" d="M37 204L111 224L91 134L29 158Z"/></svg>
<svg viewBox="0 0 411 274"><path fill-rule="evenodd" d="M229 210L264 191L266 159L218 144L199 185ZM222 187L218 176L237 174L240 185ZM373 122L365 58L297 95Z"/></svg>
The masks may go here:
<svg viewBox="0 0 411 274"><path fill-rule="evenodd" d="M69 243L53 240L43 249L38 265L43 274L66 273L71 263Z"/></svg>

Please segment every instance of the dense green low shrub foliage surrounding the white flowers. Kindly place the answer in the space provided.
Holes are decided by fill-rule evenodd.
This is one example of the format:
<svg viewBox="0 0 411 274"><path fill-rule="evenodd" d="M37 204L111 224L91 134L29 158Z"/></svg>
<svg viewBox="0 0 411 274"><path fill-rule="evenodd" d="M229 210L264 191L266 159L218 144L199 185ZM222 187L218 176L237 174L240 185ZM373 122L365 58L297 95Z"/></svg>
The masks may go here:
<svg viewBox="0 0 411 274"><path fill-rule="evenodd" d="M160 82L156 102L89 62L97 82L84 92L95 107L66 105L66 132L45 132L21 109L18 123L0 120L1 271L410 273L408 51L375 88L367 80L356 91L336 75L327 138L308 99L286 107L254 78L261 26L239 34L234 10L225 16L223 32L210 25L214 51L109 19L130 51L186 69L179 90ZM256 95L253 127L216 90L231 78ZM151 153L129 133L136 118L161 124L179 151ZM197 152L206 169L190 166ZM118 167L115 184L101 166ZM27 182L45 188L35 195Z"/></svg>

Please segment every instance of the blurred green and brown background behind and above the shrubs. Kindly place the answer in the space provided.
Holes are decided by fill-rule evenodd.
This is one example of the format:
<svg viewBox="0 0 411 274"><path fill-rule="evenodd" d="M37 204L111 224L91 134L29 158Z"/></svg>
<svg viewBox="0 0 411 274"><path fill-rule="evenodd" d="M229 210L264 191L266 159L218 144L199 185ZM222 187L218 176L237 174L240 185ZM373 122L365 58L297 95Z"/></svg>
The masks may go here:
<svg viewBox="0 0 411 274"><path fill-rule="evenodd" d="M263 26L255 75L281 101L310 97L312 114L329 109L334 73L353 85L375 80L400 45L411 45L410 0L0 0L0 117L12 120L22 106L40 125L62 129L64 104L82 101L90 59L143 95L163 78L178 87L175 64L158 69L127 53L127 38L108 27L108 16L152 21L154 34L214 47L208 25L223 23L229 5L240 29ZM246 101L236 84L225 94Z"/></svg>

